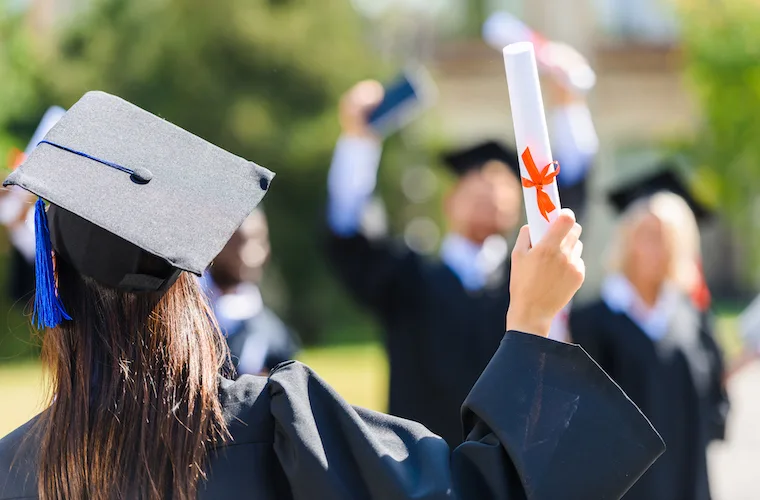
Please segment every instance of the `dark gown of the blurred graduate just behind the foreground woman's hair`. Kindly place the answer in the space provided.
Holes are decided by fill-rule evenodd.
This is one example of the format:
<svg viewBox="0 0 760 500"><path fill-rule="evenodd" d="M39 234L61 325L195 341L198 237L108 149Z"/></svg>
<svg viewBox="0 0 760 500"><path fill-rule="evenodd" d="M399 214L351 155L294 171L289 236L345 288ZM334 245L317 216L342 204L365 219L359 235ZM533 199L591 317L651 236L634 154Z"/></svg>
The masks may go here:
<svg viewBox="0 0 760 500"><path fill-rule="evenodd" d="M266 371L293 359L299 349L296 334L266 306L252 318L241 321L234 331L224 333L227 337L227 345L230 347L232 363L236 369L246 342L252 339L259 342L262 348L266 348L263 367Z"/></svg>

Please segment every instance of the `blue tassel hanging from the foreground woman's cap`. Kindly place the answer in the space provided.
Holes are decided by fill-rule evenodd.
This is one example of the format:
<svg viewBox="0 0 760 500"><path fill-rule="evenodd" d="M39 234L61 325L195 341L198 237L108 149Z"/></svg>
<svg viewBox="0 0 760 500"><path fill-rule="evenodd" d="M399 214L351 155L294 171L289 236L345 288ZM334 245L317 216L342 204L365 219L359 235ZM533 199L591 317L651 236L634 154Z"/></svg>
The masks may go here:
<svg viewBox="0 0 760 500"><path fill-rule="evenodd" d="M71 319L63 308L55 286L53 271L53 250L50 243L50 228L47 223L45 202L42 198L34 206L35 236L35 278L34 324L37 328L55 328L64 319Z"/></svg>

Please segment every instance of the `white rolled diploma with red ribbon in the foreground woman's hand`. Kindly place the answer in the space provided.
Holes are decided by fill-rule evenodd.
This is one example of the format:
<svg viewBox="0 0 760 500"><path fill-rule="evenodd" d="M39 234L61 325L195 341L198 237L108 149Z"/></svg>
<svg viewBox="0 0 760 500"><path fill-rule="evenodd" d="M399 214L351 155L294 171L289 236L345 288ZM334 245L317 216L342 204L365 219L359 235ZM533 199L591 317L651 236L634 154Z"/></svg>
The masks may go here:
<svg viewBox="0 0 760 500"><path fill-rule="evenodd" d="M512 105L520 173L523 178L531 179L522 158L526 148L530 148L539 172L553 161L533 44L520 42L505 47L504 65L507 70L509 101ZM549 172L553 171L552 165L549 167ZM549 195L555 206L555 209L548 213L549 221L553 221L559 215L561 207L556 179L550 185L543 187L543 191ZM549 222L539 211L535 187L523 186L523 197L530 226L530 240L533 245L536 245L546 233Z"/></svg>

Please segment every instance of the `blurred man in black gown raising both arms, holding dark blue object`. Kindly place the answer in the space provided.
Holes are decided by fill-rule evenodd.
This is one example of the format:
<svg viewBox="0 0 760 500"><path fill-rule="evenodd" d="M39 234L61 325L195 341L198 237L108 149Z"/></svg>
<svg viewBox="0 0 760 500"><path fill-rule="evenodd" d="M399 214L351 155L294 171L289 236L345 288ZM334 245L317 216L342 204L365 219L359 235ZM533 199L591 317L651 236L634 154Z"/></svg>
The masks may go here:
<svg viewBox="0 0 760 500"><path fill-rule="evenodd" d="M564 96L552 115L562 200L580 212L598 139L583 96L553 86ZM489 141L445 156L458 179L444 204L449 233L440 260L428 260L365 219L382 153L368 117L382 101L377 82L357 84L341 101L327 251L352 297L385 331L390 413L418 420L456 446L463 438L457 408L498 348L495 332L510 303L505 235L522 214L517 153ZM566 338L565 312L552 338Z"/></svg>

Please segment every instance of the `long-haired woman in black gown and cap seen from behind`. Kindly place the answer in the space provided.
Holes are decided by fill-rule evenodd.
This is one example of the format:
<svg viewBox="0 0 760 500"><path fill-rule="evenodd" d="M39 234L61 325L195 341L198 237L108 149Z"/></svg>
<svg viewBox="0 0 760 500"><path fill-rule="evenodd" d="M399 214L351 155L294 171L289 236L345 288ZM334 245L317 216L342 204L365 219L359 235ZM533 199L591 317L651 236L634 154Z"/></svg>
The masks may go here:
<svg viewBox="0 0 760 500"><path fill-rule="evenodd" d="M571 213L537 248L521 230L506 314L514 330L495 326L498 349L462 408L468 439L452 450L422 424L351 407L298 362L268 377L224 377L220 334L188 273L208 267L270 171L100 92L46 141L6 184L50 203L47 215L41 200L36 208L37 256L51 265L37 268L35 315L62 349L49 367L48 408L0 440L0 500L153 500L178 490L203 499L612 500L662 453L651 424L582 349L542 338L545 318L583 282ZM538 279L544 273L551 282ZM188 409L188 394L210 399ZM228 435L193 414L226 422ZM204 460L182 453L191 439Z"/></svg>

